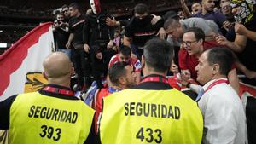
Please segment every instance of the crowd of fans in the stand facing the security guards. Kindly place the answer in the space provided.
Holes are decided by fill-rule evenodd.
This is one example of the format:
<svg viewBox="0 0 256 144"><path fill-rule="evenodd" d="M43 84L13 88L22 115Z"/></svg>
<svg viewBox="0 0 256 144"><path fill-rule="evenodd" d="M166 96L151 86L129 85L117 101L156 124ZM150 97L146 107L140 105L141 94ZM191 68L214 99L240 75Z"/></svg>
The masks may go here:
<svg viewBox="0 0 256 144"><path fill-rule="evenodd" d="M251 48L251 44L255 43L255 39L253 40L255 37L245 35L247 31L254 32L252 26L255 24L255 17L247 17L255 14L253 9L245 16L240 14L244 13L242 10L234 12L237 6L245 5L244 2L220 1L220 5L217 5L215 1L203 0L202 5L193 3L190 12L187 3L181 0L180 4L183 10L168 11L165 15L154 15L150 14L150 10L155 10L158 6L156 3L154 4L155 7L137 4L130 20L119 21L111 17L105 9L96 11L99 9L94 9L93 6L86 15L79 12L78 5L62 7L64 14L57 15L62 15L63 18L60 23L55 24L55 34L60 31L61 26L62 31L69 28L69 33L66 32L67 44L62 43L56 48L61 51L65 49L65 53L68 53L73 60L78 76L76 90L86 92L92 81L96 81L93 87L96 86L97 89L106 87L102 81L105 78L108 79L108 68L116 61L125 61L133 66L134 72L136 72L136 82L139 84L140 77L143 75L140 62L143 47L149 39L159 37L166 39L176 47L177 55L175 55L169 73L173 77L169 79L169 83L172 84L172 87L187 93L192 99L195 100L198 97L201 87L198 70L195 67L199 65L198 58L203 51L214 49L214 47L227 47L233 51L235 63L233 69L228 72L229 74L225 73L225 75L228 76L229 84L236 90L237 95L241 96L245 92L244 89L241 89L240 81L250 85L250 90L248 90L250 94L255 92L256 69L251 63L255 61L253 60L253 48ZM253 3L247 4L251 4L247 9L253 5ZM233 13L232 6L234 7ZM254 7L255 5L253 5ZM75 17L75 19L69 20L68 24L69 16ZM84 26L79 23L81 20L84 20ZM237 20L240 23L237 23ZM64 25L64 23L66 24ZM240 37L242 38L237 40ZM58 37L56 38L58 39ZM243 41L244 38L251 40ZM125 50L129 47L131 48L130 52ZM67 52L67 48L71 51ZM251 49L251 53L248 54L247 49ZM245 60L241 55L250 55L252 59ZM238 75L242 75L242 78L238 79ZM109 83L108 81L107 85L111 85ZM90 90L87 91L86 95L91 95L90 92ZM250 129L249 137L252 138Z"/></svg>

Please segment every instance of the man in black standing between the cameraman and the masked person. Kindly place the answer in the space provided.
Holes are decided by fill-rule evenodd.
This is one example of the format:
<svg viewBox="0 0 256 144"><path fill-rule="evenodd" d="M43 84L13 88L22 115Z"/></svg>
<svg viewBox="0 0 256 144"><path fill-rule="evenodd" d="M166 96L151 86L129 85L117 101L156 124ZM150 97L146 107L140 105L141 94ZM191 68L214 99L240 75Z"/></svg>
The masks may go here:
<svg viewBox="0 0 256 144"><path fill-rule="evenodd" d="M66 44L67 48L73 45L73 60L75 71L78 74L79 90L84 87L90 87L90 56L84 51L83 42L83 28L84 22L88 22L84 14L79 11L79 5L77 3L71 3L69 5L70 16L69 20L69 38ZM84 83L85 82L85 83Z"/></svg>

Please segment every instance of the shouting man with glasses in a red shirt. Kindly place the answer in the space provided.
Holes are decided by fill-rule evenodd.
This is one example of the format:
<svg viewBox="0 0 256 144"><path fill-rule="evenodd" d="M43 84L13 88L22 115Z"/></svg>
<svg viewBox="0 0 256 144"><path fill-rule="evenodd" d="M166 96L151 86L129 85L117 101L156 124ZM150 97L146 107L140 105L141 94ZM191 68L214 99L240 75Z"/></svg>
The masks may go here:
<svg viewBox="0 0 256 144"><path fill-rule="evenodd" d="M178 52L178 62L185 79L197 78L197 72L195 72L195 66L198 65L198 58L201 54L211 47L205 47L205 34L198 27L191 27L183 34L182 49ZM212 48L215 49L215 48ZM238 91L239 84L236 75L236 69L233 68L229 72L230 85ZM189 84L184 84L190 88Z"/></svg>

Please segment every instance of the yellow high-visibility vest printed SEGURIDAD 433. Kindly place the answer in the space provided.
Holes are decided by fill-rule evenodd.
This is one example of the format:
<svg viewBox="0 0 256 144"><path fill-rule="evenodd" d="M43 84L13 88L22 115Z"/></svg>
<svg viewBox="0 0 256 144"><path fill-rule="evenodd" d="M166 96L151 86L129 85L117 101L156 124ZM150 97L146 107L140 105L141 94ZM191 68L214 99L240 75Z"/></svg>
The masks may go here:
<svg viewBox="0 0 256 144"><path fill-rule="evenodd" d="M103 101L102 144L201 144L197 103L177 89L125 89Z"/></svg>

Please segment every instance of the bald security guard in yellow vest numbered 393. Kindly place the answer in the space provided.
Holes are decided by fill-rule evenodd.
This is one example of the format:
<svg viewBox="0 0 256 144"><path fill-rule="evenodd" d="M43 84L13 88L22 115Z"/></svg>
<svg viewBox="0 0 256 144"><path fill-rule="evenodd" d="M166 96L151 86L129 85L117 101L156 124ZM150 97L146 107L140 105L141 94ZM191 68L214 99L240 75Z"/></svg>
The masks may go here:
<svg viewBox="0 0 256 144"><path fill-rule="evenodd" d="M15 95L0 103L0 129L9 129L10 144L89 141L94 110L68 88L71 74L68 56L53 53L44 60L48 85L38 92Z"/></svg>

